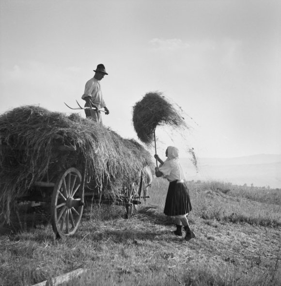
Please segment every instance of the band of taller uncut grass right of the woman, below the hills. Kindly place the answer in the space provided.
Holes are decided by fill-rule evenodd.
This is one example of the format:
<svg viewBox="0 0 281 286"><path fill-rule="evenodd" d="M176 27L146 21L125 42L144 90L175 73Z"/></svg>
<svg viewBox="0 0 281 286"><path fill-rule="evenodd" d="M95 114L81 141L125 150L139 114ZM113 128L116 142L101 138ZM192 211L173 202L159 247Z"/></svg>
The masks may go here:
<svg viewBox="0 0 281 286"><path fill-rule="evenodd" d="M218 181L191 187L193 212L206 220L281 227L281 191Z"/></svg>

